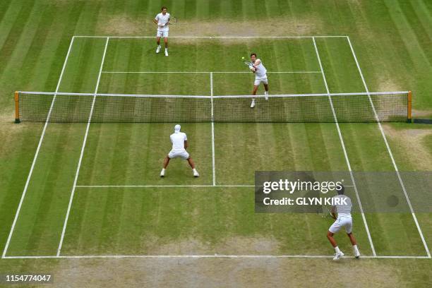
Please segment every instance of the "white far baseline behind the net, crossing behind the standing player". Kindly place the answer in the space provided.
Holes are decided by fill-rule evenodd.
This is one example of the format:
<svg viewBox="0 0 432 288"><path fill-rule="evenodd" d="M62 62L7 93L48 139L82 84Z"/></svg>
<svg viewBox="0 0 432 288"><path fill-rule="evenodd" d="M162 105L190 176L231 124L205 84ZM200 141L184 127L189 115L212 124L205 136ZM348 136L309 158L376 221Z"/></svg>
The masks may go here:
<svg viewBox="0 0 432 288"><path fill-rule="evenodd" d="M154 39L155 36L111 36L111 35L105 35L105 36L101 36L101 35L96 35L96 36L92 36L92 35L76 35L74 37L79 37L79 38L112 38L112 39L127 39L127 38L131 38L131 39ZM348 37L347 35L314 35L314 36L170 36L169 38L196 38L196 39L260 39L260 38L284 38L284 39L311 39L312 37L315 38L342 38L342 37Z"/></svg>

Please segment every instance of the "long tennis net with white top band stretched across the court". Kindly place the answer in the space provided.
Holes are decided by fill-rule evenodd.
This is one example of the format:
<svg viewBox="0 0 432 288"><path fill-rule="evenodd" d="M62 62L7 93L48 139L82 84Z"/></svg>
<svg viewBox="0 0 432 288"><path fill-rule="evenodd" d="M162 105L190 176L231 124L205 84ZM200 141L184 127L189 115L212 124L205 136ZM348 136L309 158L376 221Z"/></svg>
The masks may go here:
<svg viewBox="0 0 432 288"><path fill-rule="evenodd" d="M303 95L121 95L16 92L16 121L376 122L411 119L411 92ZM91 114L91 116L90 116Z"/></svg>

